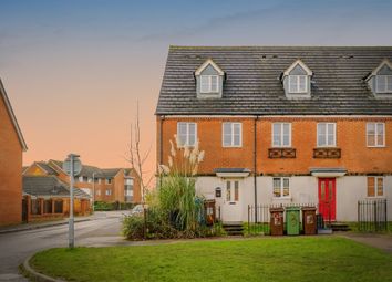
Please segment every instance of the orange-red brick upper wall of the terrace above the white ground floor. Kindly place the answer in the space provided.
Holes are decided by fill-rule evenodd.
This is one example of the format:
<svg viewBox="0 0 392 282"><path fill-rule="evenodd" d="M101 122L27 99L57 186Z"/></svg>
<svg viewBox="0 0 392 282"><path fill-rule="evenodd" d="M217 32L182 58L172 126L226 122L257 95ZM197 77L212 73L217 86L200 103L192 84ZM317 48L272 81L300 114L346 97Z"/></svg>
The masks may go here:
<svg viewBox="0 0 392 282"><path fill-rule="evenodd" d="M254 169L254 118L165 118L163 121L163 163L167 165L169 139L177 133L177 122L196 122L200 149L205 160L199 174L213 174L218 167L243 167ZM243 123L243 147L221 146L221 123ZM291 147L296 148L293 159L270 159L271 124L291 123ZM317 123L337 123L337 147L341 148L339 159L316 159ZM385 123L385 147L367 147L365 125L368 122ZM159 163L159 117L157 118L157 163ZM345 167L349 173L392 173L392 118L349 117L261 117L257 121L257 173L258 174L309 174L310 167Z"/></svg>

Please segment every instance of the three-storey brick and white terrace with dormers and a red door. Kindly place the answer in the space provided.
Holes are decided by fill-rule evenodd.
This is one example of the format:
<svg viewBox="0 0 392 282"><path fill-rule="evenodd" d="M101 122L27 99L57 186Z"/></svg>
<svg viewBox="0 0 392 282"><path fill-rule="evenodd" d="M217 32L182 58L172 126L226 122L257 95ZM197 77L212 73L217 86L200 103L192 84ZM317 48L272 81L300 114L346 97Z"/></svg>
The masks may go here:
<svg viewBox="0 0 392 282"><path fill-rule="evenodd" d="M171 46L155 114L157 163L198 139L224 221L290 202L355 221L363 199L392 220L391 46Z"/></svg>

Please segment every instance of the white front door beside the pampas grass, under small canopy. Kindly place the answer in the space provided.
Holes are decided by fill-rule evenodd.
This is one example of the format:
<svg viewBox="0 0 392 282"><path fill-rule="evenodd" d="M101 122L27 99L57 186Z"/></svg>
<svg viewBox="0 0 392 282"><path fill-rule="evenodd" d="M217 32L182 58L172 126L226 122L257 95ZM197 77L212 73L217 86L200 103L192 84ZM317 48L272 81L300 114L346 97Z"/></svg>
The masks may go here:
<svg viewBox="0 0 392 282"><path fill-rule="evenodd" d="M241 205L240 205L240 181L238 179L225 180L223 221L239 222L241 221Z"/></svg>

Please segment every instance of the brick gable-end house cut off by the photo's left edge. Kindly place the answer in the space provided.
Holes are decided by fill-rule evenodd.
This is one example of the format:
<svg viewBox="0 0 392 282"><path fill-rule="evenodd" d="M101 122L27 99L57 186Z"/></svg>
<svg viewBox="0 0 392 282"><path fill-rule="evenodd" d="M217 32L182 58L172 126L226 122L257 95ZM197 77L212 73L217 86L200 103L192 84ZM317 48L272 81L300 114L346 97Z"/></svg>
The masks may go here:
<svg viewBox="0 0 392 282"><path fill-rule="evenodd" d="M28 149L0 80L0 226L22 221L22 153Z"/></svg>

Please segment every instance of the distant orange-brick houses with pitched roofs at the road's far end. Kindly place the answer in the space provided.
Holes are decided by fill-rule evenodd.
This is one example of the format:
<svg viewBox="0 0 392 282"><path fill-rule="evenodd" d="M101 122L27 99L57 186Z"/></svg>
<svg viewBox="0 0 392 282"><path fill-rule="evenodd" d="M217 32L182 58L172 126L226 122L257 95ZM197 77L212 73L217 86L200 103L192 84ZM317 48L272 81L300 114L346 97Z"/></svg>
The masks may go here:
<svg viewBox="0 0 392 282"><path fill-rule="evenodd" d="M54 175L69 185L70 177L62 166L60 160L35 161L24 170L23 176ZM82 165L81 173L74 177L74 187L90 195L93 201L141 202L140 180L134 169L102 169Z"/></svg>

